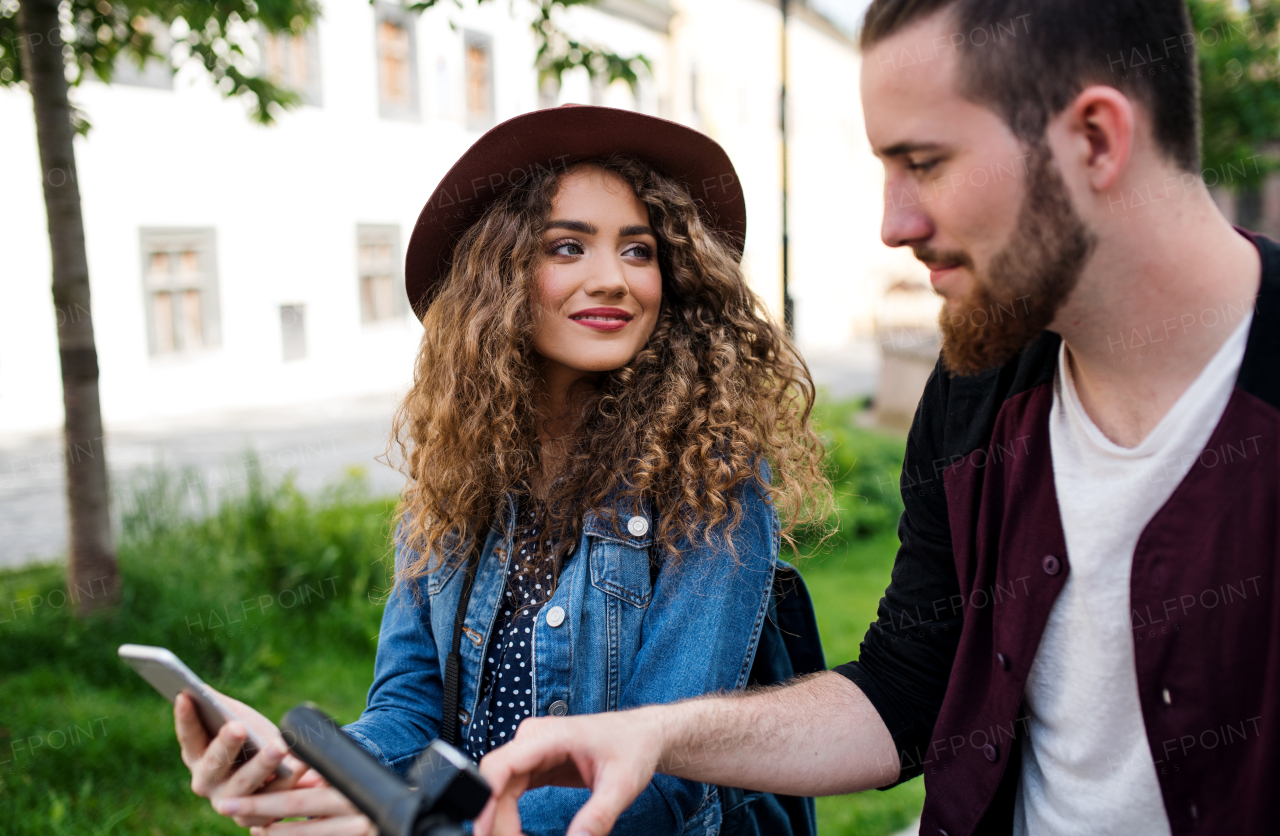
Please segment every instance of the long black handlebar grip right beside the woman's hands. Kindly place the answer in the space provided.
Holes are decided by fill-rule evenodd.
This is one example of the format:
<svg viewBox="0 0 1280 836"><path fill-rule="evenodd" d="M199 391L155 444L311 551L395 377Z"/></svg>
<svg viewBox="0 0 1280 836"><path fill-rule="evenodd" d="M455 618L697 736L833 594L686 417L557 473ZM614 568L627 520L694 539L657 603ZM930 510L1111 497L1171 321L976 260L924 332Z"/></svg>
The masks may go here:
<svg viewBox="0 0 1280 836"><path fill-rule="evenodd" d="M352 804L383 836L413 836L422 798L338 728L333 718L303 703L280 721L285 743Z"/></svg>

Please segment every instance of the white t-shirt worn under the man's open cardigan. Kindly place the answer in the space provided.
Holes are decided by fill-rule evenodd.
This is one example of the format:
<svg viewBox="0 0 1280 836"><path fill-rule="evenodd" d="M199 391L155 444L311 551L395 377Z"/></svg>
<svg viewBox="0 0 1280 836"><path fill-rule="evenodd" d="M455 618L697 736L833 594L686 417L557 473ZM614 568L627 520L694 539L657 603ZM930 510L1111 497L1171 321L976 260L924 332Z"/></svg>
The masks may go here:
<svg viewBox="0 0 1280 836"><path fill-rule="evenodd" d="M1129 570L1143 529L1222 417L1248 333L1245 318L1134 448L1093 424L1065 343L1059 352L1050 448L1070 572L1027 677L1016 836L1170 832L1138 702Z"/></svg>

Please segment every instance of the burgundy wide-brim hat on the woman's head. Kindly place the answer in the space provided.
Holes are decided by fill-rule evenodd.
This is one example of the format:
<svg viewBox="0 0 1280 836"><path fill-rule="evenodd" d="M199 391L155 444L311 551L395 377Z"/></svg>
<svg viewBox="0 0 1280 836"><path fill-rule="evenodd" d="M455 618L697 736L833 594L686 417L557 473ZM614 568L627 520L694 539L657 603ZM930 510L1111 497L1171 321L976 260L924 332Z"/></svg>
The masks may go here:
<svg viewBox="0 0 1280 836"><path fill-rule="evenodd" d="M703 223L727 233L741 257L746 202L728 155L710 137L631 110L562 105L497 125L467 149L417 216L404 255L404 289L421 319L449 273L453 247L499 195L540 170L622 154L678 181Z"/></svg>

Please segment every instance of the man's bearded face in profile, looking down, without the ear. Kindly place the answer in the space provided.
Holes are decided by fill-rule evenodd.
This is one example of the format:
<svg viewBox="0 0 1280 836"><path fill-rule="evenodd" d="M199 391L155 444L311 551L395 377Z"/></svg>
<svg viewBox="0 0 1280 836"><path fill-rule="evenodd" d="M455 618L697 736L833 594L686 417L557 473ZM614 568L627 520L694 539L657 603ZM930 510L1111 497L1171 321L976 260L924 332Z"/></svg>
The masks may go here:
<svg viewBox="0 0 1280 836"><path fill-rule="evenodd" d="M867 136L884 164L881 237L929 268L946 300L943 360L975 374L1050 324L1092 236L1048 149L1027 147L993 110L960 95L954 28L936 14L873 46L861 93Z"/></svg>

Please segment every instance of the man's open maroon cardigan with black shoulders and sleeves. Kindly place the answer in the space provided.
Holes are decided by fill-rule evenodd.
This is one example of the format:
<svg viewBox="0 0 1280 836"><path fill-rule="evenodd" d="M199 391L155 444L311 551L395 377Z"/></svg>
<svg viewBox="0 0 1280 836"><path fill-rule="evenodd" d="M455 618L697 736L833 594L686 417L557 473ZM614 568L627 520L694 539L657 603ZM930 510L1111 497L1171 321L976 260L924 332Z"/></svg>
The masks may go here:
<svg viewBox="0 0 1280 836"><path fill-rule="evenodd" d="M1175 835L1280 832L1280 245L1253 239L1252 312L1199 315L1253 316L1235 390L1133 556L1139 699ZM1044 333L1001 369L934 370L892 581L859 661L836 668L893 735L899 780L924 775L922 833L1012 827L1027 675L1071 571L1048 438L1059 346Z"/></svg>

